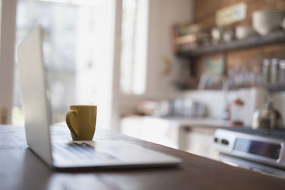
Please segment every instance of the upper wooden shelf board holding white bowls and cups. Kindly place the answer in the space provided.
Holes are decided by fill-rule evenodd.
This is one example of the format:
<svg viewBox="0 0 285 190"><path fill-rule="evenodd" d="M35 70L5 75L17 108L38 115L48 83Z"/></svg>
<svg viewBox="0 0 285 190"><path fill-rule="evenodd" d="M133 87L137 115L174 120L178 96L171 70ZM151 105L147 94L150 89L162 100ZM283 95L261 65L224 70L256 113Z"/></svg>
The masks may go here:
<svg viewBox="0 0 285 190"><path fill-rule="evenodd" d="M185 58L197 58L210 53L233 51L242 48L265 46L274 43L285 43L285 31L275 31L266 36L252 36L250 38L235 40L228 43L219 43L213 46L201 47L185 53L177 53L177 56Z"/></svg>

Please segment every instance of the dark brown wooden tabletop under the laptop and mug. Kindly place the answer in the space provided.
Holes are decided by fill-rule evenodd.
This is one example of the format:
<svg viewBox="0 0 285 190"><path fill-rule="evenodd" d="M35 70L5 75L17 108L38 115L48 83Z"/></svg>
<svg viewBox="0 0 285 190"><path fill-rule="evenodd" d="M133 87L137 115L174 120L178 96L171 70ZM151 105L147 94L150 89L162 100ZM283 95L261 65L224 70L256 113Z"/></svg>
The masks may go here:
<svg viewBox="0 0 285 190"><path fill-rule="evenodd" d="M52 139L70 140L67 127L52 127ZM138 144L182 158L180 167L57 172L26 144L24 127L0 125L0 189L284 189L285 180L241 169L115 132L95 139Z"/></svg>

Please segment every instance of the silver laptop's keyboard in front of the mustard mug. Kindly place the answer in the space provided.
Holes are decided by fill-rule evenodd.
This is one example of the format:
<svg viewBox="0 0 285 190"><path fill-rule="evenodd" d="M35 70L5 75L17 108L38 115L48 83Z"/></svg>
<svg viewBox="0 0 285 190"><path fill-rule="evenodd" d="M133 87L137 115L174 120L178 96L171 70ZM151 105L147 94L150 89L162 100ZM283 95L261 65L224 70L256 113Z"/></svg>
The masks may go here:
<svg viewBox="0 0 285 190"><path fill-rule="evenodd" d="M51 145L53 153L56 157L61 157L61 159L71 159L71 160L102 160L102 159L116 159L110 154L105 154L103 152L98 152L93 146L83 142L83 143L54 143Z"/></svg>

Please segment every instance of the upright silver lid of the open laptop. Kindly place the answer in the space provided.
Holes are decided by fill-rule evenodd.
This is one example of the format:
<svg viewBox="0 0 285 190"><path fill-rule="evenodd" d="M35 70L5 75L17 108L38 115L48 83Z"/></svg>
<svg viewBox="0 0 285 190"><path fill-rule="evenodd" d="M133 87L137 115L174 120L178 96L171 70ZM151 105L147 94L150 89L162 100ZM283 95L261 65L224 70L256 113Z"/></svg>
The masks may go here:
<svg viewBox="0 0 285 190"><path fill-rule="evenodd" d="M50 112L46 96L48 93L43 67L41 27L34 28L17 46L17 56L26 141L33 152L51 166Z"/></svg>

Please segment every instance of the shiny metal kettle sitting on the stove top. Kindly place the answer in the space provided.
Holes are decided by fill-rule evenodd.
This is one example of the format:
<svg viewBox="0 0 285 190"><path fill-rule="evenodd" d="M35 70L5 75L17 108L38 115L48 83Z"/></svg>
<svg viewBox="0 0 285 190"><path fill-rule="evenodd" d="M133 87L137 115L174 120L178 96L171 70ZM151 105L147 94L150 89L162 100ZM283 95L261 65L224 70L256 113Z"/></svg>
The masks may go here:
<svg viewBox="0 0 285 190"><path fill-rule="evenodd" d="M254 130L278 130L284 125L280 113L274 109L271 95L268 101L258 110L254 112L252 117L252 128Z"/></svg>

